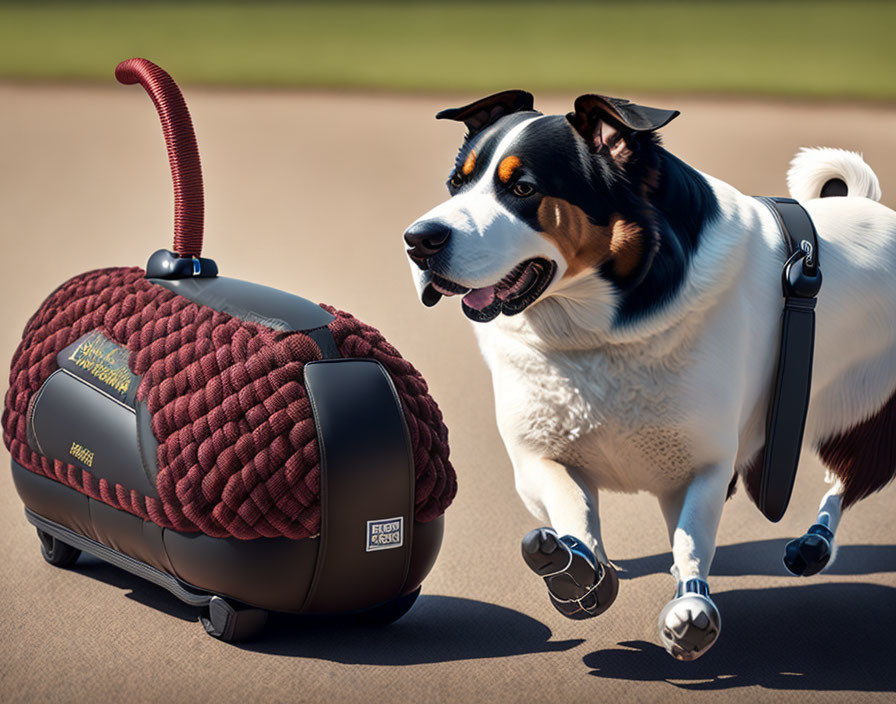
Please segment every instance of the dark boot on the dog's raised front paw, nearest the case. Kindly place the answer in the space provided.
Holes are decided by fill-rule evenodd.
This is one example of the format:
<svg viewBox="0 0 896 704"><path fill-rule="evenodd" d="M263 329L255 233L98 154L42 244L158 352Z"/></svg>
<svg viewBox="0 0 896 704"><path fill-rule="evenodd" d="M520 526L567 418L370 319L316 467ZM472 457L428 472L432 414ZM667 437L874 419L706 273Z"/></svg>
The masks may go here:
<svg viewBox="0 0 896 704"><path fill-rule="evenodd" d="M619 591L611 565L571 535L559 537L551 528L538 528L523 538L523 559L544 578L554 608L567 618L591 618L603 613Z"/></svg>

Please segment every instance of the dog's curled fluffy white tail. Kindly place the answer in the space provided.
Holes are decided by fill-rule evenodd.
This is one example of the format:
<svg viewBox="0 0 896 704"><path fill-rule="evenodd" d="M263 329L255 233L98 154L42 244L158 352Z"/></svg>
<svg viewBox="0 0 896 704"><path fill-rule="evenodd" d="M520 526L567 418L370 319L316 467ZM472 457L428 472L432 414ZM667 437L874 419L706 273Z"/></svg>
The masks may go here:
<svg viewBox="0 0 896 704"><path fill-rule="evenodd" d="M861 154L845 149L817 147L801 149L787 171L787 188L796 200L821 196L821 189L831 179L846 184L846 195L880 200L880 183Z"/></svg>

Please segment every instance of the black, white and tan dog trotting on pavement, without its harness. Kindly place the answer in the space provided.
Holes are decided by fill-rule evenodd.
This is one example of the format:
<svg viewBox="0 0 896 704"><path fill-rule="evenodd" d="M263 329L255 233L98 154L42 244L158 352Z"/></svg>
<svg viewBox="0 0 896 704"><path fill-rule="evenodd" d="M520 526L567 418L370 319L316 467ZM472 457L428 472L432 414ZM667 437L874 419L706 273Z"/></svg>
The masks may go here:
<svg viewBox="0 0 896 704"><path fill-rule="evenodd" d="M460 296L474 322L517 491L550 526L522 552L554 606L590 618L612 604L598 494L651 492L677 585L659 637L694 660L721 629L707 578L723 504L738 476L759 492L782 233L765 204L661 146L677 111L596 94L567 115L533 104L513 90L436 116L467 134L450 197L404 233L411 271L425 305ZM830 564L842 510L896 474L896 212L855 153L803 150L787 181L825 277L804 454L832 487L785 555L810 575Z"/></svg>

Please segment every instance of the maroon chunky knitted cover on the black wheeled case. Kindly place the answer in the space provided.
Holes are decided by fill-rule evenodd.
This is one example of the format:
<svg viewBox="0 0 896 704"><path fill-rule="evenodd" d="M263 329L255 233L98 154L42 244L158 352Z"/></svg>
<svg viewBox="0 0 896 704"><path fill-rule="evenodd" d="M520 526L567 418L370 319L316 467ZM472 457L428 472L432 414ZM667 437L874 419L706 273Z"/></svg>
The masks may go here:
<svg viewBox="0 0 896 704"><path fill-rule="evenodd" d="M454 498L448 430L426 382L369 325L328 306L345 357L389 371L414 450L416 518L430 521ZM130 350L142 376L137 398L159 441L159 498L143 496L28 446L32 395L57 353L92 330ZM305 362L320 358L306 335L197 305L150 283L139 268L91 271L64 283L28 321L12 360L3 439L23 467L111 506L179 531L215 537L306 538L320 529L320 466Z"/></svg>

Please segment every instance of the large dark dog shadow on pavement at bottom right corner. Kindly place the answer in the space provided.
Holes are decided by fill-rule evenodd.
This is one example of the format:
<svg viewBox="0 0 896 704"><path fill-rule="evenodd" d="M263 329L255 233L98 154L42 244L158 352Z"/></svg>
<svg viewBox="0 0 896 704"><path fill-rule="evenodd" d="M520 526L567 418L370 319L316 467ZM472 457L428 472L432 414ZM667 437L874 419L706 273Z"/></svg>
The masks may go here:
<svg viewBox="0 0 896 704"><path fill-rule="evenodd" d="M598 650L584 663L595 677L665 681L686 690L896 690L896 589L843 582L742 589L713 595L722 634L695 662L653 643Z"/></svg>

